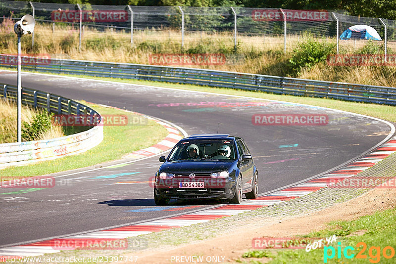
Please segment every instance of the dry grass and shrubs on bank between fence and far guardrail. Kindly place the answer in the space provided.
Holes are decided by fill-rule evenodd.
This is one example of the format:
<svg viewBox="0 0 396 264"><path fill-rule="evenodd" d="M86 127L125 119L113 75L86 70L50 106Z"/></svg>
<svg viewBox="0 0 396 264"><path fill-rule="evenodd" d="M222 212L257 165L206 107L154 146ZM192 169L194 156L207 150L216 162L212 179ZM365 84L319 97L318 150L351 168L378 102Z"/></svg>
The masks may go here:
<svg viewBox="0 0 396 264"><path fill-rule="evenodd" d="M9 19L8 19L9 20ZM10 22L4 19L0 26L2 53L15 54L15 34ZM150 64L153 54L221 53L222 65L193 65L207 68L264 75L298 77L334 82L396 87L395 66L332 66L327 56L336 54L334 38L320 38L309 34L288 36L287 53L283 52L283 36L239 35L234 47L233 36L221 32L188 32L184 47L179 31L136 30L131 46L130 33L118 30L97 31L83 28L82 47L79 50L78 30L64 24L37 24L35 42L22 38L22 53L49 54L52 58L80 59ZM388 54L396 44L388 43ZM383 42L340 41L341 54L383 54ZM177 65L174 65L177 66ZM183 66L183 65L181 65Z"/></svg>

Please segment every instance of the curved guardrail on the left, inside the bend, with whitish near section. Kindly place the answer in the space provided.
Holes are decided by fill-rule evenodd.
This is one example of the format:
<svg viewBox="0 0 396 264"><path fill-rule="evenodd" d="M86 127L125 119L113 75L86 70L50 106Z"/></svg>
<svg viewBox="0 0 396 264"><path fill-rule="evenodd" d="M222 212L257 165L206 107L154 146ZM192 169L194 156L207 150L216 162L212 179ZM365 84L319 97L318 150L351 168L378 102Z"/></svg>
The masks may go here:
<svg viewBox="0 0 396 264"><path fill-rule="evenodd" d="M0 97L16 101L17 87L1 84ZM95 110L55 94L22 88L21 99L23 104L34 108L42 107L57 114L98 116L101 122L101 117ZM78 154L95 147L102 140L103 126L99 123L87 131L59 138L0 144L0 169Z"/></svg>

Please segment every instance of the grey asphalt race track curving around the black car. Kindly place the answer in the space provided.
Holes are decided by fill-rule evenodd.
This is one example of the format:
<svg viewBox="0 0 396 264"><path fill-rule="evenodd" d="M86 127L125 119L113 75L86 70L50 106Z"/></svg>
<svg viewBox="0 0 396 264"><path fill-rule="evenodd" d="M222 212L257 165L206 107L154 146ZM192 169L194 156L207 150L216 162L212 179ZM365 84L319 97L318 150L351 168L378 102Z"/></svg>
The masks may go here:
<svg viewBox="0 0 396 264"><path fill-rule="evenodd" d="M0 82L16 85L16 73L0 71ZM338 167L391 131L383 122L350 113L252 98L28 73L22 74L22 86L132 109L172 122L188 134L217 132L220 122L219 132L245 138L258 168L259 193ZM253 114L322 114L329 122L325 126L254 126ZM172 201L156 207L148 181L159 165L157 156L114 168L57 174L63 176L56 178L53 188L1 188L0 247L220 204ZM117 184L121 181L140 182Z"/></svg>

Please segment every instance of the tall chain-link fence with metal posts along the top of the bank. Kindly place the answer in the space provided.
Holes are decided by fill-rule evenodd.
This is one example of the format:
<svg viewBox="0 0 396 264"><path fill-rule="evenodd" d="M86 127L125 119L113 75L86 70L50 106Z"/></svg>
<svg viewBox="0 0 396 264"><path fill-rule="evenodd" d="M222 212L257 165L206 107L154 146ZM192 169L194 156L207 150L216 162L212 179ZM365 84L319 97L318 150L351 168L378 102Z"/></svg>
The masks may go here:
<svg viewBox="0 0 396 264"><path fill-rule="evenodd" d="M181 50L205 53L205 44L219 49L237 49L239 45L260 49L291 51L307 37L337 43L337 51L361 49L363 33L347 39L343 32L354 25L372 27L380 36L378 47L393 52L396 21L349 16L326 10L289 10L247 7L133 6L60 4L0 1L1 30L24 14L32 14L42 25L34 34L63 38L62 44L112 35L133 45L153 44L158 40L177 44ZM95 44L92 43L92 44ZM32 46L34 35L32 36ZM155 46L156 47L156 46ZM201 50L200 50L201 49ZM217 49L217 50L219 50Z"/></svg>

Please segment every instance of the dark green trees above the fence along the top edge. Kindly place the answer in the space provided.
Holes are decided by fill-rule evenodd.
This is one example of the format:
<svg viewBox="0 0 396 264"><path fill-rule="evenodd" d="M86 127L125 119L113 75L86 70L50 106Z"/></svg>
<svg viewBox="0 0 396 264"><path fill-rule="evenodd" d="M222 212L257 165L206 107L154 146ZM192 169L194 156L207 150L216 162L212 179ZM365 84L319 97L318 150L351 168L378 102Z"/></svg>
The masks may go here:
<svg viewBox="0 0 396 264"><path fill-rule="evenodd" d="M28 0L24 0L28 1ZM286 9L345 10L347 14L396 20L396 0L36 0L51 3L90 3L148 6L244 6Z"/></svg>

